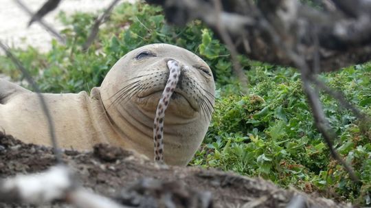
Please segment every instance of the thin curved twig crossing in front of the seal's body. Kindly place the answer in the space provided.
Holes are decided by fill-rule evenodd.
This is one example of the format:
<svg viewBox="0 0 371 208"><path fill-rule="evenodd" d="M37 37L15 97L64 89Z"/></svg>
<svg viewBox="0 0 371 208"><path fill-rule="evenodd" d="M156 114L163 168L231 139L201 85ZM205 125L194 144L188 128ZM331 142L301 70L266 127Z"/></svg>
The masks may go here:
<svg viewBox="0 0 371 208"><path fill-rule="evenodd" d="M3 49L3 51L5 51L6 56L8 56L10 60L14 62L14 65L16 65L16 67L23 73L23 76L25 76L25 79L27 80L27 82L32 86L32 89L34 89L35 93L37 94L38 100L41 103L41 108L43 108L45 117L47 117L47 123L49 124L49 135L50 135L50 139L52 140L52 146L54 149L56 160L58 161L58 163L62 163L62 157L61 157L60 149L58 148L58 142L57 142L55 130L54 130L54 122L52 119L52 115L50 114L49 108L47 107L47 104L43 97L43 94L38 88L36 82L34 82L34 79L32 79L32 76L30 75L30 73L27 71L27 69L25 69L25 67L23 67L23 65L21 64L21 61L19 61L12 54L12 52L10 52L10 49L6 45L1 43L1 41L0 41L0 47L1 49Z"/></svg>

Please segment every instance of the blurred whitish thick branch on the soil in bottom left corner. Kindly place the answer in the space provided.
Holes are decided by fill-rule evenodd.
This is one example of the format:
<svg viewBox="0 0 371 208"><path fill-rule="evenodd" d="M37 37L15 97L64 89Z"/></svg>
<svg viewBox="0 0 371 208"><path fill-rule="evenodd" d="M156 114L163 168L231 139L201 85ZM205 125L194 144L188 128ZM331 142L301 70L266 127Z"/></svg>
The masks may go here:
<svg viewBox="0 0 371 208"><path fill-rule="evenodd" d="M0 181L0 202L40 205L55 200L79 208L128 208L76 185L72 173L65 165L54 166L38 174L19 175Z"/></svg>

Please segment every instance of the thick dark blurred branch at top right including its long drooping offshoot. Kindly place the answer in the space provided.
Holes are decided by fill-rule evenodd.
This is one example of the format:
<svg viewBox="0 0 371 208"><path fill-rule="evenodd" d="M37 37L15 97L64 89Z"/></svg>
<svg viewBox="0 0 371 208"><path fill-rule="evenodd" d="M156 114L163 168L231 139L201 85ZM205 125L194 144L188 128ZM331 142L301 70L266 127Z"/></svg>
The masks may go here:
<svg viewBox="0 0 371 208"><path fill-rule="evenodd" d="M352 167L333 148L335 134L329 133L331 127L311 84L319 83L322 90L350 108L357 117L366 117L341 93L319 82L315 75L371 59L371 3L334 0L333 8L328 11L315 10L297 0L147 2L162 5L171 23L184 25L193 19L203 20L229 48L235 46L238 52L251 59L299 69L317 129L331 155L344 165L352 180L358 181ZM227 9L214 9L222 8L221 5Z"/></svg>

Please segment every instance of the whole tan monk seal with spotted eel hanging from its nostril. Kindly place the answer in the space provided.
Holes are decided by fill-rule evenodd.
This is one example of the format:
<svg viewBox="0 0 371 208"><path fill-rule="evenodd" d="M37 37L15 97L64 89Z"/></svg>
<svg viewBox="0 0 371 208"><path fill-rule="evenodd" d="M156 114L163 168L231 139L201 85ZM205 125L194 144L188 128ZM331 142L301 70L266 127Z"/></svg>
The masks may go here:
<svg viewBox="0 0 371 208"><path fill-rule="evenodd" d="M153 125L169 78L169 60L181 65L181 73L166 110L164 161L186 165L210 124L214 78L199 56L167 44L130 51L90 95L43 93L60 147L89 150L96 143L109 143L153 158ZM50 145L47 126L36 93L0 80L0 128L27 143Z"/></svg>

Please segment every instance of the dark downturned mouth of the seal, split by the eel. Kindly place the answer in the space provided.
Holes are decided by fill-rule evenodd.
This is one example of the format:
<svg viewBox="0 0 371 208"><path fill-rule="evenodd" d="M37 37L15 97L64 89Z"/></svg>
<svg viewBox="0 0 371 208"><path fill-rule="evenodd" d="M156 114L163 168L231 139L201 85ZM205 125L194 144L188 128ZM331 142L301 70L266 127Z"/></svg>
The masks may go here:
<svg viewBox="0 0 371 208"><path fill-rule="evenodd" d="M143 99L155 99L155 100L157 100L161 97L161 94L162 94L163 91L164 91L164 89L153 89L153 90L150 90L150 91L139 93L137 95L137 98L139 98L139 100L143 100ZM196 100L194 100L193 97L190 97L189 95L187 95L181 89L176 88L174 93L172 93L171 100L170 100L170 105L174 102L179 104L179 102L177 102L178 100L179 100L179 102L182 102L182 103L184 101L186 101L187 104L193 109L193 111L197 111L197 112L199 111L199 105L197 105Z"/></svg>

